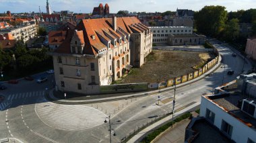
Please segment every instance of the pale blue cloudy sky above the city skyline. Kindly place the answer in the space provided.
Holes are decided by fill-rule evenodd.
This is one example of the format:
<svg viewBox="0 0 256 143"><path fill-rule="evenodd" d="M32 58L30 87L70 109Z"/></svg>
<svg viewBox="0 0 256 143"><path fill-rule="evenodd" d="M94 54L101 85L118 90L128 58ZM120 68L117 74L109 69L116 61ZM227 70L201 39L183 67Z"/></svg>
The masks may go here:
<svg viewBox="0 0 256 143"><path fill-rule="evenodd" d="M38 12L38 6L43 12L46 11L46 0L0 0L0 13L11 11L19 12ZM119 10L128 11L176 11L179 9L192 9L198 11L205 5L222 5L228 11L237 9L256 8L256 0L49 0L52 11L69 10L75 13L90 13L93 7L102 3L108 3L110 13L116 13Z"/></svg>

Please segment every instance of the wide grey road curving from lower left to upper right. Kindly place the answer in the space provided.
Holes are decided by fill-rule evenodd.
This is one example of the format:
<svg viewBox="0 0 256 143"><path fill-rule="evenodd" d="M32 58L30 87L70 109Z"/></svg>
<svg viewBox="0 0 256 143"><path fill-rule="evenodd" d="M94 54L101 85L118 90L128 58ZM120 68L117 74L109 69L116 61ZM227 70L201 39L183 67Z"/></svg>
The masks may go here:
<svg viewBox="0 0 256 143"><path fill-rule="evenodd" d="M224 59L225 68L218 68L205 79L177 89L175 109L199 103L201 95L211 93L214 87L222 84L222 79L224 79L223 83L227 83L241 73L243 58L233 57L232 50L217 43L215 42ZM249 68L250 65L245 64L245 70ZM226 75L230 69L234 70L234 75ZM14 137L23 142L109 142L108 124L104 124L107 115L104 113L86 105L62 107L44 99L45 88L53 86L52 80L53 75L50 75L49 80L42 84L36 81L20 81L18 85L6 84L8 89L0 91L0 94L5 95L3 102L8 103L0 110L0 139ZM120 142L138 126L150 122L158 115L172 111L173 95L174 91L148 95L113 115L111 123L116 134L111 136L113 142ZM156 105L158 96L161 105ZM85 111L79 111L80 108ZM90 128L86 128L88 126Z"/></svg>

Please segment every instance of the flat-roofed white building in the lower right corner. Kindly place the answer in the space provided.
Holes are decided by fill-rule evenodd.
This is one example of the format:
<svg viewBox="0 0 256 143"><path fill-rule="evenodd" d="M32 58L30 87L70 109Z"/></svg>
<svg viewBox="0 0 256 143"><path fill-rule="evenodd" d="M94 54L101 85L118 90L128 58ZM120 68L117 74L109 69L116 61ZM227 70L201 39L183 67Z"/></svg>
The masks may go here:
<svg viewBox="0 0 256 143"><path fill-rule="evenodd" d="M239 101L241 107L238 107ZM256 104L255 101L249 101L245 107L245 102L247 99L236 93L202 96L200 116L205 117L234 142L256 142ZM253 109L254 113L249 113Z"/></svg>

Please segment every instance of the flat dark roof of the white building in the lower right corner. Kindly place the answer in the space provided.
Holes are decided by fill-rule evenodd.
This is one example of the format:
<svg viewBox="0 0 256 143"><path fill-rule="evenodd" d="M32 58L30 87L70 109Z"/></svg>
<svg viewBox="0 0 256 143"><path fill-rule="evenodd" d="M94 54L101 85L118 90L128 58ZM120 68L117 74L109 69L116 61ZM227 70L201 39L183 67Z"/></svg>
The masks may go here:
<svg viewBox="0 0 256 143"><path fill-rule="evenodd" d="M238 101L247 99L247 95L243 95L238 91L234 91L232 93L224 93L220 95L210 95L204 97L216 103L221 109L223 109L233 117L236 117L236 119L243 122L243 124L249 126L250 128L256 128L256 119L243 112L238 107ZM256 99L253 100L256 101Z"/></svg>

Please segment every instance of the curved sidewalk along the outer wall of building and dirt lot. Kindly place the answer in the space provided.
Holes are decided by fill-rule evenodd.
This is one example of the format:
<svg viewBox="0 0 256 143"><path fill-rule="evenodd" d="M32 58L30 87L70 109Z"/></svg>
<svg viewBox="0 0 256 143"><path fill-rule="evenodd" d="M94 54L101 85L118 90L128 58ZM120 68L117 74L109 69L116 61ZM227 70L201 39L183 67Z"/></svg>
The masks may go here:
<svg viewBox="0 0 256 143"><path fill-rule="evenodd" d="M221 66L220 61L222 60L222 57L221 56L219 56L219 57L220 58L219 58L218 63L214 67L212 67L210 70L208 70L206 73L204 73L200 77L197 77L196 79L192 79L191 81L187 81L185 83L181 83L181 84L177 85L177 88L183 87L185 85L190 85L191 83L195 83L197 81L200 81L201 79L204 79L205 77L214 73L214 71L217 70ZM161 89L161 91L169 91L169 90L173 90L173 89L174 89L174 87L166 87L164 89ZM113 95L110 96L110 97L106 97L106 96L102 95L103 98L95 98L95 99L93 99L94 95L92 95L92 96L90 96L90 99L70 100L70 99L59 99L59 98L55 97L53 95L53 90L54 89L51 89L49 91L49 96L46 96L46 98L49 99L50 101L53 101L55 103L60 103L60 104L98 103L98 102L114 101L114 100L121 100L121 99L128 99L128 98L136 98L136 97L142 97L142 96L147 96L147 95L150 95L150 94L158 93L158 90L155 90L155 91L146 91L146 92L143 92L143 93L135 93L135 94L129 94L129 95L119 94L119 96L115 96L115 97L113 97ZM98 96L96 96L96 97L98 97Z"/></svg>

